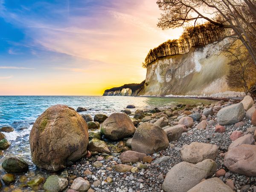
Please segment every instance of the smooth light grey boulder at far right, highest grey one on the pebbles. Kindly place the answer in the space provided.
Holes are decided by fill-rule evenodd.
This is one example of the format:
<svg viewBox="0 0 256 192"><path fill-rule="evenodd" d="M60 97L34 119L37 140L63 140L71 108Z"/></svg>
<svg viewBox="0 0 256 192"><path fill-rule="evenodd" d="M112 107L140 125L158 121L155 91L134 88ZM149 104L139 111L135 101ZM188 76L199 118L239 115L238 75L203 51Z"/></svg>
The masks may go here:
<svg viewBox="0 0 256 192"><path fill-rule="evenodd" d="M241 121L245 111L242 103L227 106L218 111L217 121L220 125L229 125Z"/></svg>

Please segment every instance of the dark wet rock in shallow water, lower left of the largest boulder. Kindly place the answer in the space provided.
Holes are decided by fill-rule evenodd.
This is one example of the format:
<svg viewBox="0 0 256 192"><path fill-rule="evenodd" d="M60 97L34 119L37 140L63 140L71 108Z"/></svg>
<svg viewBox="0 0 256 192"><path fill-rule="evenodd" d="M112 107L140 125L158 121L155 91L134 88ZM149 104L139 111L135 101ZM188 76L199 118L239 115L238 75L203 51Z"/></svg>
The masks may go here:
<svg viewBox="0 0 256 192"><path fill-rule="evenodd" d="M7 173L25 173L29 170L29 165L20 157L8 157L2 163L3 169Z"/></svg>

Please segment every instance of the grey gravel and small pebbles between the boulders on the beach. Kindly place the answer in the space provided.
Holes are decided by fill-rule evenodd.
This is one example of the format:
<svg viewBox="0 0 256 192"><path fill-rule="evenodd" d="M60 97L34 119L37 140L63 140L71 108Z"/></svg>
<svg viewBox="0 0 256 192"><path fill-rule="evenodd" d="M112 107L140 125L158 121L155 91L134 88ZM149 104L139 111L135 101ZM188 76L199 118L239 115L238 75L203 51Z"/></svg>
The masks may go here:
<svg viewBox="0 0 256 192"><path fill-rule="evenodd" d="M219 154L215 159L218 165L217 170L225 169L226 171L225 176L220 177L221 180L224 182L227 179L233 180L235 186L234 190L236 192L254 192L256 190L256 177L246 177L244 175L229 172L228 169L223 165L224 157L220 155L221 153L227 152L228 146L232 142L229 138L230 134L235 130L242 131L244 134L246 134L247 128L252 127L250 121L243 119L245 124L240 128L235 128L235 125L225 125L226 132L216 133L215 125L217 125L217 117L212 115L208 121L209 120L211 120L211 125L207 123L207 128L204 130L197 130L195 125L198 122L194 122L192 130L186 132L186 134L182 134L178 140L170 142L169 147L165 150L152 154L151 157L153 157L156 161L153 161L151 164L146 164L147 168L140 170L138 173L120 173L114 170L115 164L121 163L119 160L120 153L111 154L115 156L113 160L101 160L100 162L103 164L103 166L100 168L95 168L92 166L92 164L99 156L104 156L105 154L96 154L89 159L82 158L73 166L68 167L68 173L69 175L76 175L76 177L86 177L91 184L93 184L93 182L96 180L99 180L99 186L96 187L91 185L91 189L97 192L163 192L163 190L161 190L161 186L166 173L173 166L182 161L180 158L180 149L182 146L192 142L202 142L215 144L218 146ZM170 119L170 125L175 124L177 124L177 122ZM117 143L113 143L113 145L116 144ZM159 164L154 162L158 162ZM129 165L136 166L136 163ZM86 169L89 169L92 172L92 175L84 175L84 171ZM108 183L106 181L107 177L111 177L113 182ZM215 175L212 177L215 177ZM73 178L74 177L72 177L72 179ZM73 180L70 179L68 188L72 182Z"/></svg>

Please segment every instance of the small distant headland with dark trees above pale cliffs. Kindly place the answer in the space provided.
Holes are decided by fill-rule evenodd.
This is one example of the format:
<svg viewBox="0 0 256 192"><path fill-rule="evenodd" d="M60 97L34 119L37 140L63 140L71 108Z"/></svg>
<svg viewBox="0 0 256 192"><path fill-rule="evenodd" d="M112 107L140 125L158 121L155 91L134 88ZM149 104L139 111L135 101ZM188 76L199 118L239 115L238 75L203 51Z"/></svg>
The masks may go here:
<svg viewBox="0 0 256 192"><path fill-rule="evenodd" d="M113 87L105 90L103 96L136 96L142 89L145 80L141 83L124 84L121 87Z"/></svg>

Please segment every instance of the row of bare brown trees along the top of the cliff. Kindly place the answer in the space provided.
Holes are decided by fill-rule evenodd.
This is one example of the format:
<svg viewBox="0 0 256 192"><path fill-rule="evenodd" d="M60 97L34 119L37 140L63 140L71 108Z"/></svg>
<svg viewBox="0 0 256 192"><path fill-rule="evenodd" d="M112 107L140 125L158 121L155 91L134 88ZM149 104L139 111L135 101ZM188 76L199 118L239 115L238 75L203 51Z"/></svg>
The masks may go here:
<svg viewBox="0 0 256 192"><path fill-rule="evenodd" d="M227 36L233 35L231 29L220 28L212 23L204 23L202 25L191 26L184 29L183 34L177 40L168 40L160 44L154 49L150 49L148 55L143 62L143 67L156 61L157 58L180 55L188 53L192 47L211 44L216 41L221 41Z"/></svg>

